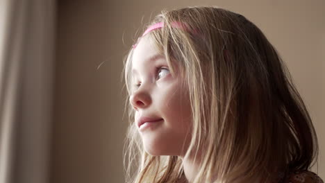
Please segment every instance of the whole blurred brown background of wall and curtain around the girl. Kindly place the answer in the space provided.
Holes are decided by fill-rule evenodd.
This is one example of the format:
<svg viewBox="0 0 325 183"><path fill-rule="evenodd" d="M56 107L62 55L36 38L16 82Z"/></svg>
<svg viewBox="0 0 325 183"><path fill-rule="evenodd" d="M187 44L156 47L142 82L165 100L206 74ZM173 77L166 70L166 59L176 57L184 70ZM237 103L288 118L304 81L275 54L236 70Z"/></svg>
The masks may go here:
<svg viewBox="0 0 325 183"><path fill-rule="evenodd" d="M124 182L122 67L135 33L163 9L208 5L253 21L281 54L324 179L324 0L1 0L0 183Z"/></svg>

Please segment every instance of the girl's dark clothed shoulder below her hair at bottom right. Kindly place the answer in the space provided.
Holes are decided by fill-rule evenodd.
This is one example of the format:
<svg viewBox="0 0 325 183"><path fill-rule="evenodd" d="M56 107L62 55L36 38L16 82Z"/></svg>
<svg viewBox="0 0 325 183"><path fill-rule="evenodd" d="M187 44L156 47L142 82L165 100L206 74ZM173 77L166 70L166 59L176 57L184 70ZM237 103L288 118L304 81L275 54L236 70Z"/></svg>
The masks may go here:
<svg viewBox="0 0 325 183"><path fill-rule="evenodd" d="M293 171L285 177L284 183L324 183L323 180L311 171Z"/></svg>

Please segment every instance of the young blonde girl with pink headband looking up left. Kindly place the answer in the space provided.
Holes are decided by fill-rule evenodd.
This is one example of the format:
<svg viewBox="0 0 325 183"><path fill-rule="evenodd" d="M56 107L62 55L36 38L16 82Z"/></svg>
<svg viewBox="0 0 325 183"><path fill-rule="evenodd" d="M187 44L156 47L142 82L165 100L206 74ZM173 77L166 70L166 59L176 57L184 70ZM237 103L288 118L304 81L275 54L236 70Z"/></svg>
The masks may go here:
<svg viewBox="0 0 325 183"><path fill-rule="evenodd" d="M124 64L128 182L322 182L290 73L242 15L163 11Z"/></svg>

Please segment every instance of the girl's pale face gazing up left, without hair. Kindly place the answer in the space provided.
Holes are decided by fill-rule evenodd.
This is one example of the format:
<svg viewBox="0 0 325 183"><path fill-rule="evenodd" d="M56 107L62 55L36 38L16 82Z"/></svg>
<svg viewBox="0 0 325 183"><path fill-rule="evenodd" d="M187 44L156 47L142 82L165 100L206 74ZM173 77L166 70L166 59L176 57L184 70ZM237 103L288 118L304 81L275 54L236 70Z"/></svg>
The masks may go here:
<svg viewBox="0 0 325 183"><path fill-rule="evenodd" d="M165 58L157 54L148 36L133 52L130 103L135 123L150 155L185 155L191 138L188 90L178 68L172 76Z"/></svg>

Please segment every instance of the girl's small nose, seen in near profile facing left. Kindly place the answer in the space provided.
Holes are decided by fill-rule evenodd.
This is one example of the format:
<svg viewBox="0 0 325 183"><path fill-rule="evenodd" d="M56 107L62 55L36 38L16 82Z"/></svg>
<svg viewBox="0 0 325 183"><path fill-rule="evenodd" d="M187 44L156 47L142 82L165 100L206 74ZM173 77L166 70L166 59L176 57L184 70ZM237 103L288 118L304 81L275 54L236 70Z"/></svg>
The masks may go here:
<svg viewBox="0 0 325 183"><path fill-rule="evenodd" d="M146 108L151 104L151 97L147 92L135 92L130 96L130 103L135 110Z"/></svg>

